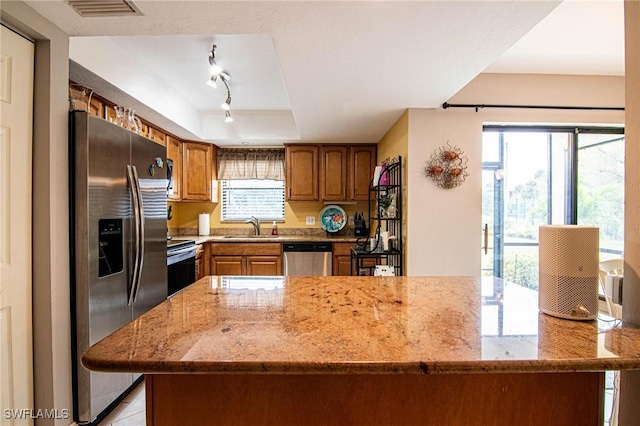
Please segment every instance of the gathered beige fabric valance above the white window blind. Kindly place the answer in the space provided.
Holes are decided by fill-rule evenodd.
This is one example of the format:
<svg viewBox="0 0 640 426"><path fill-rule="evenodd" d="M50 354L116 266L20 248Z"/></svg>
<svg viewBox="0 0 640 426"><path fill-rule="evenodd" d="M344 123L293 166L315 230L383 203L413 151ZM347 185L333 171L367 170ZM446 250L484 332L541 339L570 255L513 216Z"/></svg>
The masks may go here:
<svg viewBox="0 0 640 426"><path fill-rule="evenodd" d="M218 149L218 180L284 180L284 149Z"/></svg>

